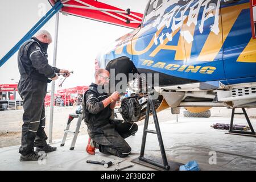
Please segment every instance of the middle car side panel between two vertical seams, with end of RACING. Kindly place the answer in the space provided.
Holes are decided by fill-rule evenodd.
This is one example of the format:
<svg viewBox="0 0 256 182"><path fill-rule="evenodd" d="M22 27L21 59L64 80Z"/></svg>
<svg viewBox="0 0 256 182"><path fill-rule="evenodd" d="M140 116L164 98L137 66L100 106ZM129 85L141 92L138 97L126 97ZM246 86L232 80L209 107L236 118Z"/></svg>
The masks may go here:
<svg viewBox="0 0 256 182"><path fill-rule="evenodd" d="M186 65L200 69L185 73L200 81L225 79L220 1L189 1L189 11L183 15Z"/></svg>

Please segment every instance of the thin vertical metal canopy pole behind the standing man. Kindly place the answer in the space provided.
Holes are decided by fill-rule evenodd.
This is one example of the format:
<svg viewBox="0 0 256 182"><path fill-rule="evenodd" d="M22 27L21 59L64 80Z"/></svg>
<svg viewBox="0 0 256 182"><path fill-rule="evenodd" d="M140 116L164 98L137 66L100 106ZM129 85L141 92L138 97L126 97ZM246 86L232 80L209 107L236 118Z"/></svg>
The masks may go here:
<svg viewBox="0 0 256 182"><path fill-rule="evenodd" d="M53 64L52 64L53 67L56 67L58 31L59 31L59 12L56 13L56 20L55 20L55 38L54 38L54 51L53 51ZM52 81L51 109L50 109L50 121L49 121L49 143L52 142L54 93L55 93L55 81Z"/></svg>

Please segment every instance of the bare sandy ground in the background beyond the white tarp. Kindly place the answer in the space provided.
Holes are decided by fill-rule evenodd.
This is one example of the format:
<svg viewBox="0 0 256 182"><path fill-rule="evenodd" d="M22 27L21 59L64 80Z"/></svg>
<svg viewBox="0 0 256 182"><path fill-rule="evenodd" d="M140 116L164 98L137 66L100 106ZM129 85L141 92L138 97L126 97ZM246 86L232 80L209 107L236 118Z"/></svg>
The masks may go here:
<svg viewBox="0 0 256 182"><path fill-rule="evenodd" d="M53 115L53 135L52 139L61 139L64 134L65 126L67 125L68 114L75 113L76 107L55 107ZM230 118L231 109L225 107L214 107L211 110L212 117L228 117ZM237 109L238 111L238 109ZM16 146L20 144L20 135L22 127L23 110L0 111L0 148L8 146ZM247 109L247 114L250 118L256 118L256 108ZM121 115L118 115L122 119ZM166 122L176 119L176 115L171 114L171 109L166 109L158 113L159 122ZM179 118L183 118L183 109L181 109ZM243 118L243 115L236 115L235 118ZM76 119L73 120L71 129L75 130ZM152 117L150 118L152 123ZM236 120L235 120L236 123ZM143 121L137 122L138 125L143 125ZM210 127L210 126L209 126ZM49 107L46 107L46 133L49 133ZM87 134L87 127L84 122L81 124L80 134ZM72 135L68 135L72 137Z"/></svg>

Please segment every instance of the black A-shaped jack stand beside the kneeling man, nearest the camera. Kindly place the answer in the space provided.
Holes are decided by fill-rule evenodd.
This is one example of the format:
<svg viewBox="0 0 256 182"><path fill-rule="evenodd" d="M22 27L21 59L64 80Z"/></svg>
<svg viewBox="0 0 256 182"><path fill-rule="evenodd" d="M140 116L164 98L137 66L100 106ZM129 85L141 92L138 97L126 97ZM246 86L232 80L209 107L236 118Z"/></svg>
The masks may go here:
<svg viewBox="0 0 256 182"><path fill-rule="evenodd" d="M160 127L159 127L158 117L156 115L156 110L155 110L155 100L152 98L153 95L154 95L154 90L149 92L149 95L148 95L147 110L146 110L146 117L145 117L145 121L144 121L143 137L142 137L142 144L141 144L141 154L140 154L139 158L133 159L133 160L131 160L131 162L141 164L146 167L151 167L154 169L169 170L170 166L171 166L170 170L179 170L179 166L181 166L183 164L175 163L175 162L168 163L168 161L167 161L166 151L164 150L163 139L162 139L162 135L161 135ZM150 110L152 111L156 130L148 130L147 129L148 128L148 119L150 117ZM144 157L147 133L156 134L158 136L158 143L160 146L160 152L162 155L163 163L160 163L156 160L147 159Z"/></svg>

